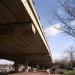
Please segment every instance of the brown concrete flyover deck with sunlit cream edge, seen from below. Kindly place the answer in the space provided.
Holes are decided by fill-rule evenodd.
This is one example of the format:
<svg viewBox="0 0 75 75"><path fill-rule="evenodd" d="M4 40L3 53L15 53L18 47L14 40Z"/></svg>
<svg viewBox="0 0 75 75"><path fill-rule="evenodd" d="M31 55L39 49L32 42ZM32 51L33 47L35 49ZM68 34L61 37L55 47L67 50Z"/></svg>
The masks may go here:
<svg viewBox="0 0 75 75"><path fill-rule="evenodd" d="M52 63L32 0L0 0L0 58L28 65Z"/></svg>

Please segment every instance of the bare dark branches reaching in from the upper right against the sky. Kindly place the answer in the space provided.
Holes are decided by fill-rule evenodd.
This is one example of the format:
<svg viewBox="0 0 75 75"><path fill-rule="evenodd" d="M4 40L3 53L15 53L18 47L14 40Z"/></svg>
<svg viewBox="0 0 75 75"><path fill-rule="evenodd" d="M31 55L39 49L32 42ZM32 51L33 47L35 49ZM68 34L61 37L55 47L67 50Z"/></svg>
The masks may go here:
<svg viewBox="0 0 75 75"><path fill-rule="evenodd" d="M60 22L57 28L75 38L75 0L57 0L60 4L58 10L53 9L55 19ZM61 12L59 12L61 11ZM50 22L49 22L50 23Z"/></svg>

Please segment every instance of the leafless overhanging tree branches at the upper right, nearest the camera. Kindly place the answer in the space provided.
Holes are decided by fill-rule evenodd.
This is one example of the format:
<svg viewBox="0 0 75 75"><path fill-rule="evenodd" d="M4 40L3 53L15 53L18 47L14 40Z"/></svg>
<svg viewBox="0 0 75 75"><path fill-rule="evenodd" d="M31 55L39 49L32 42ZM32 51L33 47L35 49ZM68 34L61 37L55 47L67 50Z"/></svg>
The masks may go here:
<svg viewBox="0 0 75 75"><path fill-rule="evenodd" d="M74 23L72 24L72 22L75 20L75 0L65 0L64 3L59 3L61 7L63 7L63 10L65 12L63 17L58 13L55 13L57 18L61 22L60 30L75 38L75 25Z"/></svg>

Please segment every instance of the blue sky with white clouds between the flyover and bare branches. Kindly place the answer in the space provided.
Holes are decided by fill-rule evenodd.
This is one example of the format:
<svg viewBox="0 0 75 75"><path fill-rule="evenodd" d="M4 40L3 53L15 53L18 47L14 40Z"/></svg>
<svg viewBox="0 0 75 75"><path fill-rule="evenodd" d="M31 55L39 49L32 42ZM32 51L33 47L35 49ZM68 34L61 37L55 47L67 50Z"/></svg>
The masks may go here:
<svg viewBox="0 0 75 75"><path fill-rule="evenodd" d="M63 59L64 50L69 46L73 46L75 44L75 39L53 27L56 26L60 28L61 24L54 19L53 10L58 10L61 16L67 15L65 15L65 12L60 8L58 0L34 0L34 5L47 36L53 61ZM75 24L75 21L72 23Z"/></svg>

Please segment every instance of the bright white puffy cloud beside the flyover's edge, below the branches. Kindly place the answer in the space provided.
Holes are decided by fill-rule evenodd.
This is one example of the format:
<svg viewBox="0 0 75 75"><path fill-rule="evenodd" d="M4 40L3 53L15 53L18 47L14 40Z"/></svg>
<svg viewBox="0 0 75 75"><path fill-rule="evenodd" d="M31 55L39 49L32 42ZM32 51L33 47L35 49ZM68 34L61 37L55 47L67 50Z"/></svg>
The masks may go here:
<svg viewBox="0 0 75 75"><path fill-rule="evenodd" d="M61 33L60 30L56 29L56 28L60 28L60 24L55 24L52 26L49 26L45 29L45 33L47 34L47 36L56 36L57 34Z"/></svg>

